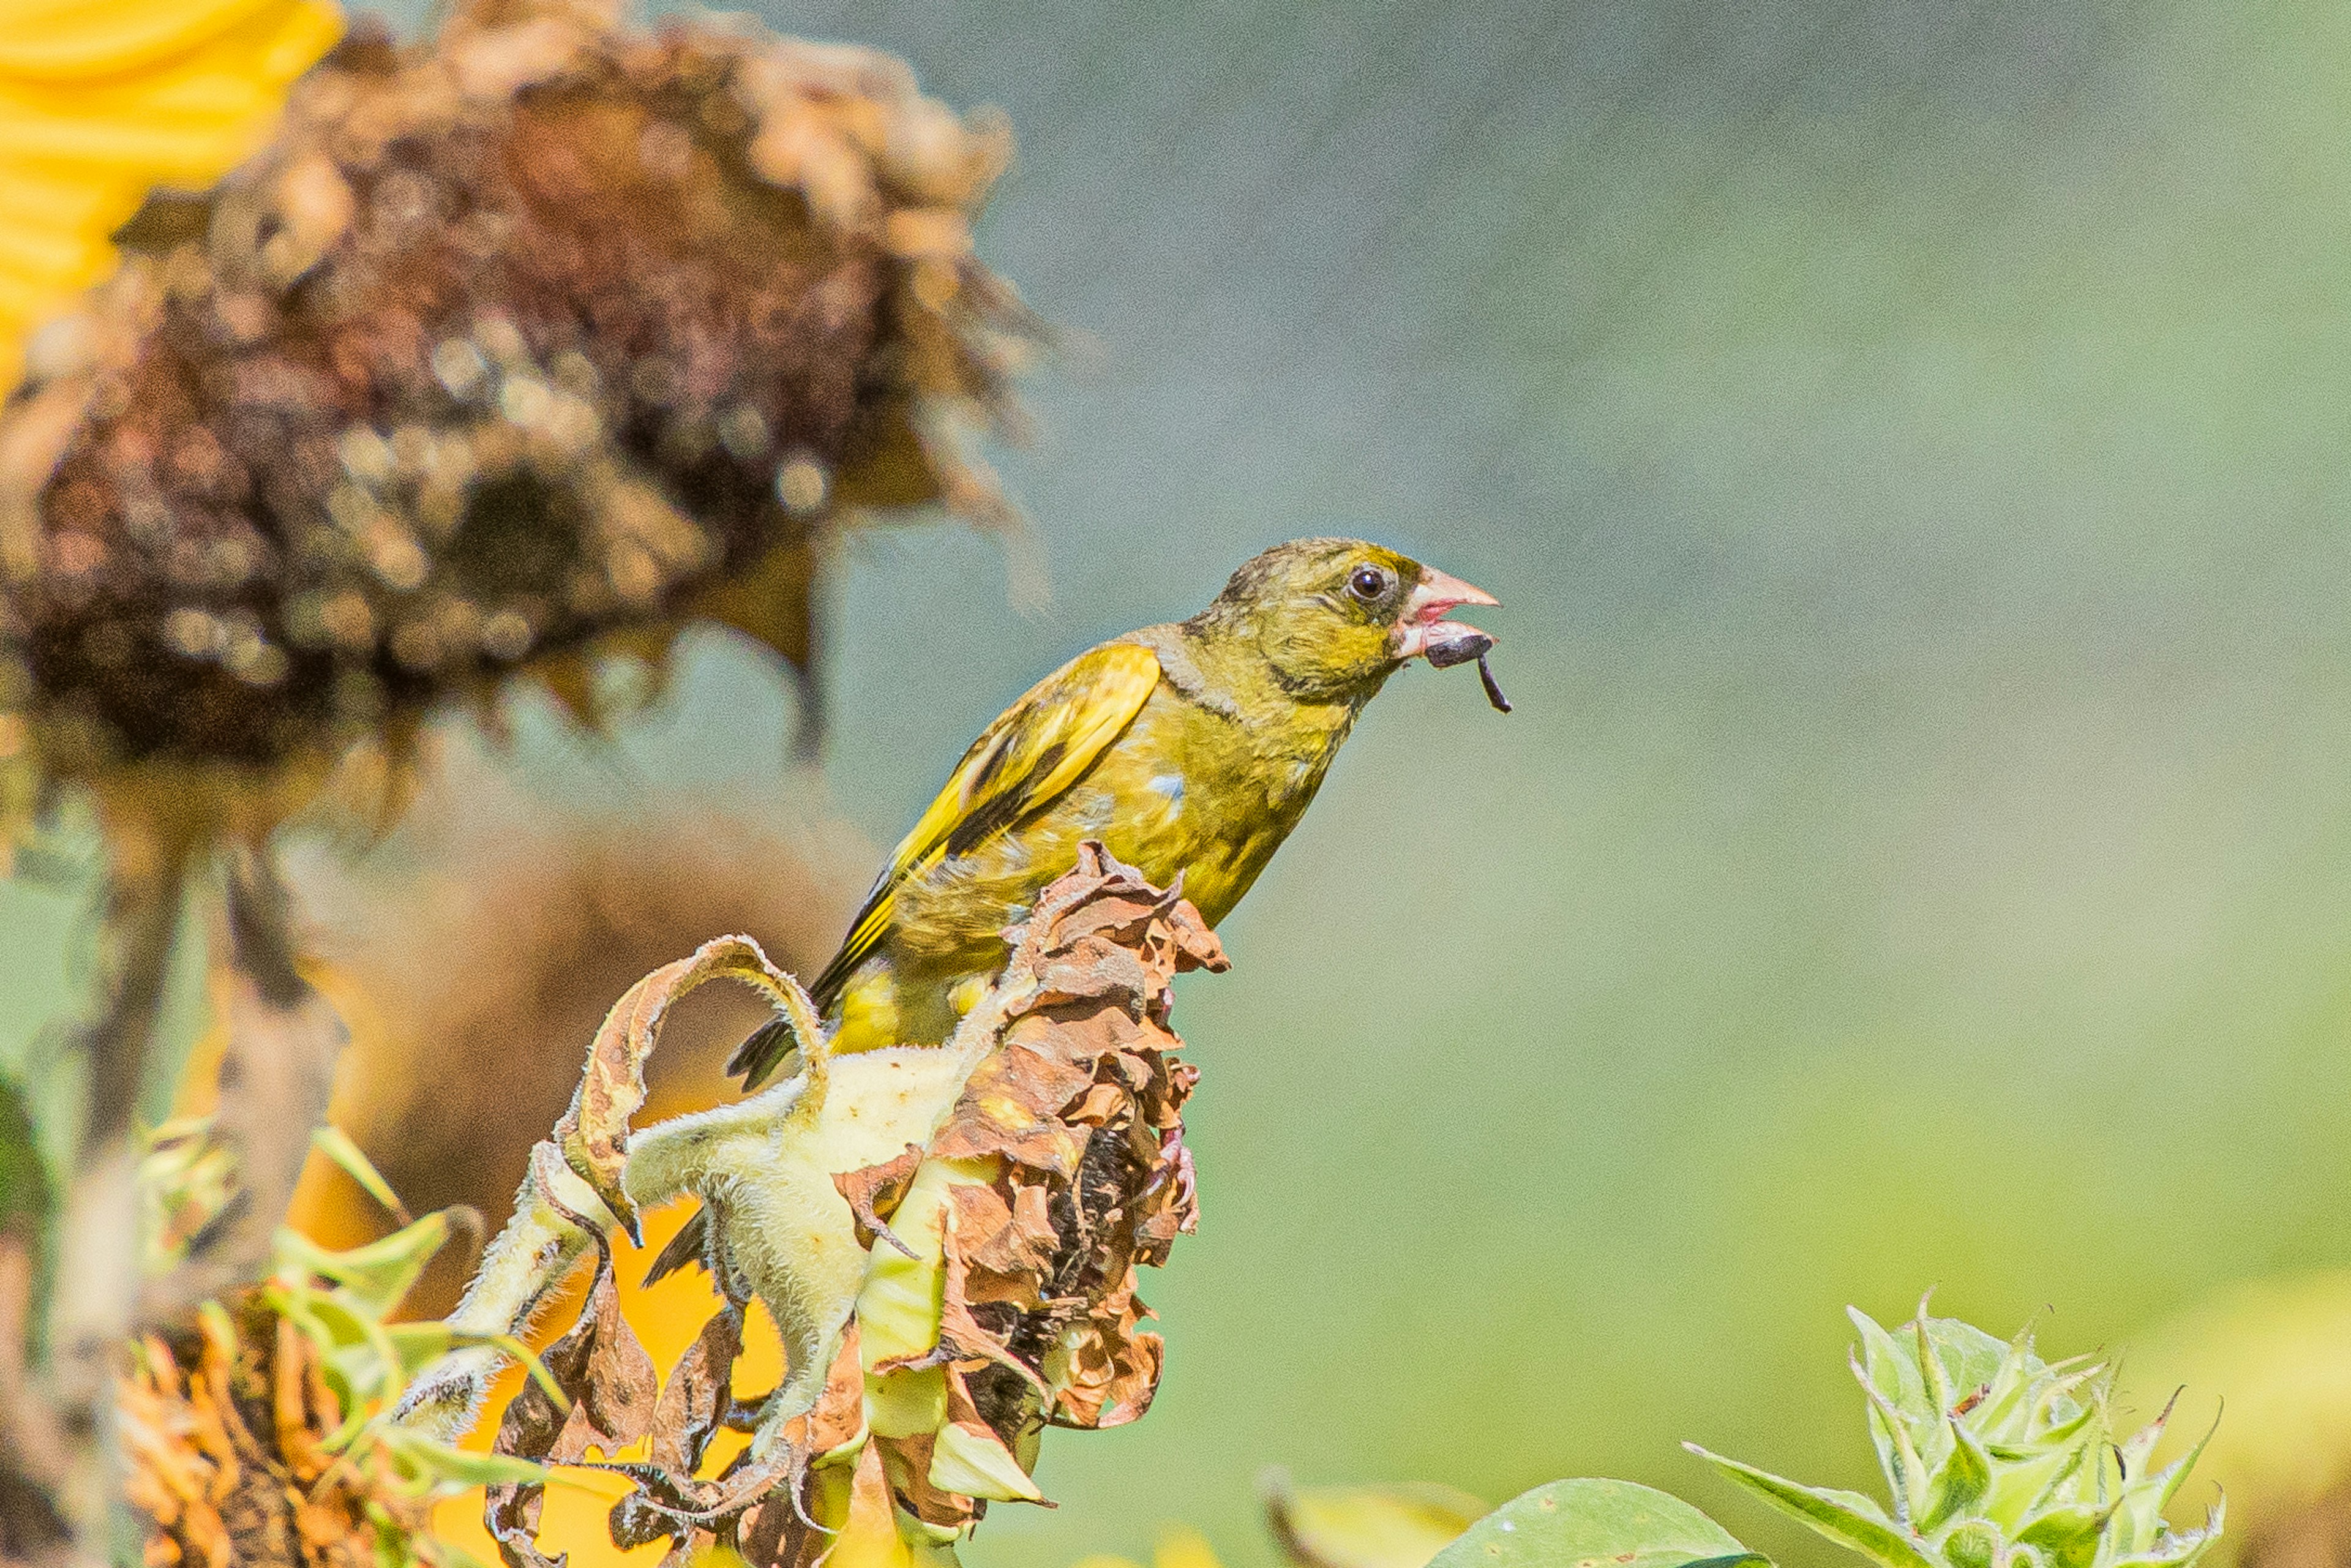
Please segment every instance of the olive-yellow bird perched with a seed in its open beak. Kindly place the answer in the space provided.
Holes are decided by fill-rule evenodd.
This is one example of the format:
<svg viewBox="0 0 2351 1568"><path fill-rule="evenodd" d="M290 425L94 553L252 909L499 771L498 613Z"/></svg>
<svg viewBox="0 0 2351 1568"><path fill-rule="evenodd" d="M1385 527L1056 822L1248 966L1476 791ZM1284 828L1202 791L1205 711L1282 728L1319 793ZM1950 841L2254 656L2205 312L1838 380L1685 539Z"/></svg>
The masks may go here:
<svg viewBox="0 0 2351 1568"><path fill-rule="evenodd" d="M1183 877L1215 926L1387 677L1493 644L1446 621L1460 604L1495 599L1380 545L1298 538L1234 571L1190 621L1128 632L1037 682L964 752L809 987L830 1048L947 1039L1004 966L1004 929L1084 839L1159 886ZM792 1044L778 1020L726 1070L757 1088Z"/></svg>

